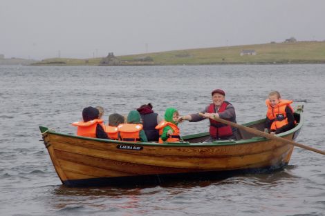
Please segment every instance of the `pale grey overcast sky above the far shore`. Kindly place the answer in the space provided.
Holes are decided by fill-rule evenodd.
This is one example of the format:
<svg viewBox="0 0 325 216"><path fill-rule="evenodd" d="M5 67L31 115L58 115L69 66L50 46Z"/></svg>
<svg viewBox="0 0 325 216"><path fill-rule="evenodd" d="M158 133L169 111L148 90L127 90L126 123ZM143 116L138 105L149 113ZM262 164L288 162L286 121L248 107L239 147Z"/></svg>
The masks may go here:
<svg viewBox="0 0 325 216"><path fill-rule="evenodd" d="M5 57L103 57L325 40L325 1L0 0Z"/></svg>

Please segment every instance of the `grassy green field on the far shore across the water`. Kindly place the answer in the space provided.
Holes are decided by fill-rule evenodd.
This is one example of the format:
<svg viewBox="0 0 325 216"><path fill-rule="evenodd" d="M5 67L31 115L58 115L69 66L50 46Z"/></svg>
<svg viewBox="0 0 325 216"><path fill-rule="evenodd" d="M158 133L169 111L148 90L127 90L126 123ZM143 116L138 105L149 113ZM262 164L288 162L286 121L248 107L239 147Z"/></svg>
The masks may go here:
<svg viewBox="0 0 325 216"><path fill-rule="evenodd" d="M255 50L257 55L241 56L241 50ZM140 61L150 57L152 61ZM44 59L36 65L100 65L96 59ZM325 41L265 43L219 48L200 48L119 56L120 65L207 65L264 63L325 63Z"/></svg>

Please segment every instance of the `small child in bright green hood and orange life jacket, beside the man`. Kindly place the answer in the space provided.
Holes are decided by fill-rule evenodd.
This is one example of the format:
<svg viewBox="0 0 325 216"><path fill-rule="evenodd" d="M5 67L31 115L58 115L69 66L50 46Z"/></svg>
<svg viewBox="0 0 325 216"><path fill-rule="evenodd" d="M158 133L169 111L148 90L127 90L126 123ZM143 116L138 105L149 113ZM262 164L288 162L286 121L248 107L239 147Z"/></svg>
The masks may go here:
<svg viewBox="0 0 325 216"><path fill-rule="evenodd" d="M176 142L180 140L180 131L178 128L179 114L175 108L167 108L165 111L165 121L161 121L156 129L159 130L159 143L164 141Z"/></svg>

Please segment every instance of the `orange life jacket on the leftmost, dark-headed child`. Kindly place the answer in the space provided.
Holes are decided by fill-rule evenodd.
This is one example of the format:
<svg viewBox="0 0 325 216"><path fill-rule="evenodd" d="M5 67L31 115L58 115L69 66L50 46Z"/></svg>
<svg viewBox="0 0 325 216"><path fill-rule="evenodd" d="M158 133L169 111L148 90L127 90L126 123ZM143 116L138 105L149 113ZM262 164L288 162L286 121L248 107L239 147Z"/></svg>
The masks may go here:
<svg viewBox="0 0 325 216"><path fill-rule="evenodd" d="M77 126L77 135L82 137L96 137L96 127L100 124L104 129L105 125L102 119L93 119L91 121L76 121L73 122L73 126Z"/></svg>

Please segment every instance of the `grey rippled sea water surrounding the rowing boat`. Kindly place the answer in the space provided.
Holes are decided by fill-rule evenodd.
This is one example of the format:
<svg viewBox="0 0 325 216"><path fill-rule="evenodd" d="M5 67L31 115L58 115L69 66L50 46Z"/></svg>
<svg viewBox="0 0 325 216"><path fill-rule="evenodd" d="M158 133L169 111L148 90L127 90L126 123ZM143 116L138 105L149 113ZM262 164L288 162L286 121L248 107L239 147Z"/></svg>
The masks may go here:
<svg viewBox="0 0 325 216"><path fill-rule="evenodd" d="M274 173L159 186L68 188L55 173L38 126L75 133L86 106L104 120L151 103L163 117L199 112L222 88L239 124L266 115L278 90L304 105L297 142L325 150L325 65L0 66L0 215L325 215L325 155L295 147ZM182 135L208 122L180 124Z"/></svg>

